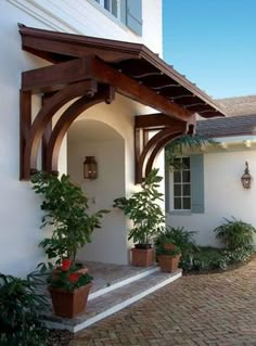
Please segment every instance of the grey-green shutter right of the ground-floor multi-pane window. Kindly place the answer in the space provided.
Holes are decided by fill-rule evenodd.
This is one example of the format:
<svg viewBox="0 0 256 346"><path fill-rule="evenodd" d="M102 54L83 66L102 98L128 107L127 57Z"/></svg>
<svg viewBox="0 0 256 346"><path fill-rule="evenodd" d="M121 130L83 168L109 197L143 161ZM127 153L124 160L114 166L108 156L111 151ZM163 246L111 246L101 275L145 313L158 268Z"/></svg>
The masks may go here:
<svg viewBox="0 0 256 346"><path fill-rule="evenodd" d="M204 155L190 156L191 212L204 213Z"/></svg>

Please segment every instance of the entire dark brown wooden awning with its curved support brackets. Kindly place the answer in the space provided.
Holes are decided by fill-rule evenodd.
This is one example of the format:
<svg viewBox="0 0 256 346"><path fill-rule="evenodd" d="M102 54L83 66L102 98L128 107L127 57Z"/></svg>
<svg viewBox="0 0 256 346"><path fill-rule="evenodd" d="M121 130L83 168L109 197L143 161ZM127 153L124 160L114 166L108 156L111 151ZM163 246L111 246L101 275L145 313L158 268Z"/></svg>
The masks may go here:
<svg viewBox="0 0 256 346"><path fill-rule="evenodd" d="M136 120L136 182L151 169L153 158L167 141L188 130L195 114L205 118L223 116L220 107L143 44L48 31L20 25L23 50L53 65L22 74L21 178L37 169L42 139L42 168L57 170L63 137L86 108L111 103L115 92L161 112ZM42 93L42 108L31 123L31 94ZM78 98L53 129L54 114ZM143 124L143 125L142 125ZM149 130L161 129L146 140ZM141 130L143 130L142 137ZM162 134L161 134L162 133ZM139 144L138 144L139 143Z"/></svg>

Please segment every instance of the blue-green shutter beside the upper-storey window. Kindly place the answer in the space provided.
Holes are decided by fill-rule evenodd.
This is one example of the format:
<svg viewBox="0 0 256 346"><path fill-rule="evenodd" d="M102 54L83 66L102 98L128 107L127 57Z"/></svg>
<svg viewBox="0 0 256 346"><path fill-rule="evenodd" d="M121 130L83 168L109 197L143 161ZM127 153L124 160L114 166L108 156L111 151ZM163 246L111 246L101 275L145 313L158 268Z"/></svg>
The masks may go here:
<svg viewBox="0 0 256 346"><path fill-rule="evenodd" d="M142 0L126 0L126 25L142 35Z"/></svg>

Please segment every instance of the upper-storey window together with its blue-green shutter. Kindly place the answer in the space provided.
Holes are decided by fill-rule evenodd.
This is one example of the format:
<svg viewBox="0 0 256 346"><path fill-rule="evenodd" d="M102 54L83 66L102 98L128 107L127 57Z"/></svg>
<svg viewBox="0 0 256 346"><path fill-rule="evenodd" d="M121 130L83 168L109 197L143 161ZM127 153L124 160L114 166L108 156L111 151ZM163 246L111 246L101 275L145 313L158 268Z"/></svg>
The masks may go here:
<svg viewBox="0 0 256 346"><path fill-rule="evenodd" d="M135 34L142 35L142 0L94 0L104 10L128 26Z"/></svg>

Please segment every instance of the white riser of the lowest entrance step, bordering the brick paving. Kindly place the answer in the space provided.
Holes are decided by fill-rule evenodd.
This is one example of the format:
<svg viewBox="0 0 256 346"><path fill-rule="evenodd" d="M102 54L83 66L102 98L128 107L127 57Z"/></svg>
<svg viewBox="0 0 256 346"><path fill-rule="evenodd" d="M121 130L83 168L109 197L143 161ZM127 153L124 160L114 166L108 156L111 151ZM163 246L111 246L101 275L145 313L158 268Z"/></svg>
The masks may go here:
<svg viewBox="0 0 256 346"><path fill-rule="evenodd" d="M177 279L179 279L181 277L182 277L182 272L181 271L176 272L170 278L162 281L161 283L158 283L158 284L156 284L156 285L154 285L154 286L152 286L152 287L150 287L150 289L137 294L137 295L135 295L131 298L128 298L128 299L126 299L126 300L124 300L124 302L121 302L121 303L119 303L119 304L106 309L103 312L100 312L97 316L93 316L92 318L90 318L90 319L88 319L88 320L86 320L86 321L84 321L84 322L81 322L81 323L79 323L79 324L77 324L75 326L63 324L63 323L59 323L59 322L51 322L51 321L47 321L46 325L48 328L50 328L50 329L60 329L60 330L61 329L62 330L65 329L65 330L68 330L69 332L72 332L72 333L77 333L77 332L79 332L81 330L85 330L86 328L92 325L93 323L99 322L99 321L103 320L104 318L106 318L106 317L108 317L108 316L111 316L111 315L113 315L113 313L126 308L127 306L129 306L129 305L131 305L131 304L133 304L133 303L136 303L136 302L138 302L138 300L140 300L142 298L144 298L149 294L151 294L151 293L164 287L168 283L171 283L171 282L176 281Z"/></svg>

